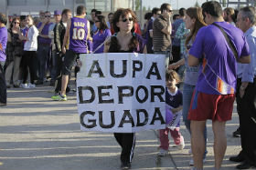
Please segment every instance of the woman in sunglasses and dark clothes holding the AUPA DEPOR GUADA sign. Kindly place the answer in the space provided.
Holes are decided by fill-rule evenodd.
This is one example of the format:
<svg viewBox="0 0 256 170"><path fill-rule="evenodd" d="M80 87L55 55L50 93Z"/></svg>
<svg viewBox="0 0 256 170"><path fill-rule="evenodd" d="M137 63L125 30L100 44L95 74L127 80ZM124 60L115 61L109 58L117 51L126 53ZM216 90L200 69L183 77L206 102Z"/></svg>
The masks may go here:
<svg viewBox="0 0 256 170"><path fill-rule="evenodd" d="M118 9L113 15L115 34L105 43L104 53L146 53L146 47L141 35L134 33L136 16L131 9ZM135 146L134 133L114 133L114 137L122 147L121 168L129 169Z"/></svg>

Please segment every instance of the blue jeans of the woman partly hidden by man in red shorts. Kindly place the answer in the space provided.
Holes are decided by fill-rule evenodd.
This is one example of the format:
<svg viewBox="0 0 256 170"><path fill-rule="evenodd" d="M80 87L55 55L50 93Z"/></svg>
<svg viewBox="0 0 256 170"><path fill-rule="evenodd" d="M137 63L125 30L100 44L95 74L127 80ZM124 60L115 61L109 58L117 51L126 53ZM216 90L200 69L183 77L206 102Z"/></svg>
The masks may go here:
<svg viewBox="0 0 256 170"><path fill-rule="evenodd" d="M195 89L195 85L187 85L184 84L183 85L183 109L182 109L182 115L183 115L183 121L186 125L187 131L189 132L189 134L191 135L191 130L190 130L190 120L187 119L187 115L188 115L188 111L189 111L189 107L190 107L190 103L191 103L191 99L192 99L192 95ZM205 137L205 144L206 144L206 151L205 151L205 155L204 158L206 157L208 151L207 151L207 126L205 128L205 132L204 132L204 137Z"/></svg>

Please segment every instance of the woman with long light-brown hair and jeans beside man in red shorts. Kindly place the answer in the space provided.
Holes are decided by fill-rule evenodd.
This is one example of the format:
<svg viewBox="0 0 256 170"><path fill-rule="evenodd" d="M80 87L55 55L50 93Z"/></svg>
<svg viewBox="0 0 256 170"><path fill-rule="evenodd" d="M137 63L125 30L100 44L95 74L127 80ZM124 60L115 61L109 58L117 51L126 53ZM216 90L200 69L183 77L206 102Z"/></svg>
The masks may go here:
<svg viewBox="0 0 256 170"><path fill-rule="evenodd" d="M183 86L183 121L185 122L186 128L189 133L190 131L190 120L187 119L188 110L191 102L191 98L193 95L193 91L195 89L195 86L197 85L197 77L198 77L198 71L199 71L199 65L197 66L188 66L187 65L187 52L191 45L193 45L193 42L196 38L197 31L207 25L204 22L203 15L202 15L202 9L200 7L190 7L186 10L185 15L185 25L187 29L190 29L190 34L187 35L186 39L186 47L187 50L185 51L184 58L177 61L176 63L169 65L169 69L176 69L180 65L186 66L185 71L185 78L184 78L184 86ZM207 145L207 127L205 129L205 141ZM189 151L190 152L190 151ZM204 161L206 159L207 150L204 155ZM194 165L193 159L190 160L189 165Z"/></svg>

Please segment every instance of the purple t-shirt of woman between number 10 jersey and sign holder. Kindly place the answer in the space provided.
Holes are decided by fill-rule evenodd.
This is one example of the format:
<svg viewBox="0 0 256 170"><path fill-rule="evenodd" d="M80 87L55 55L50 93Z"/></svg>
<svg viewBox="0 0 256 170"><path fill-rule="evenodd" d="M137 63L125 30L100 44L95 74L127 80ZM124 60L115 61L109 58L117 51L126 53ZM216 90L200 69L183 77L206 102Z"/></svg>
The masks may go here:
<svg viewBox="0 0 256 170"><path fill-rule="evenodd" d="M104 43L105 39L111 35L112 33L110 29L101 30L95 33L92 37L92 43L93 43L92 51L95 51L98 48L98 46ZM101 45L101 47L97 51L95 51L95 54L103 53L103 51L104 51L104 45Z"/></svg>

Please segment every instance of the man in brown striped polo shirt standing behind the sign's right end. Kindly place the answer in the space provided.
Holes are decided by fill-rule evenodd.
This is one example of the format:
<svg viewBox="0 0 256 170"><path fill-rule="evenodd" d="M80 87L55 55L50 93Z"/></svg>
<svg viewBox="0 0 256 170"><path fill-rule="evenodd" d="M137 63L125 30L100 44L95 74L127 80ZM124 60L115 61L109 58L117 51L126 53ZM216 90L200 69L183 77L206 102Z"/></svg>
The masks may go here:
<svg viewBox="0 0 256 170"><path fill-rule="evenodd" d="M161 15L155 19L153 24L153 47L155 54L165 55L165 65L169 65L172 49L172 24L171 16L173 14L172 6L163 4L160 7Z"/></svg>

